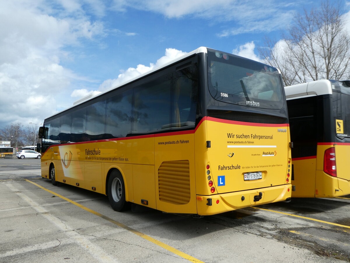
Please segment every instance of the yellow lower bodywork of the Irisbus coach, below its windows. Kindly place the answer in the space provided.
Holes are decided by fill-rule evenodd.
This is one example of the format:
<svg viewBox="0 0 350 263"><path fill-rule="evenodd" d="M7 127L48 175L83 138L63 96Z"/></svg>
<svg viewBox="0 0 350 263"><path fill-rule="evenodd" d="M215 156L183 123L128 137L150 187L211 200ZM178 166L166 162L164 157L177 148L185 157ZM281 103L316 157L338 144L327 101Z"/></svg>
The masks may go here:
<svg viewBox="0 0 350 263"><path fill-rule="evenodd" d="M245 139L228 138L231 133ZM204 117L195 130L51 146L42 155L41 174L50 178L53 164L57 182L107 194L108 176L118 169L128 202L166 213L212 215L288 200L289 141L288 124ZM257 171L261 179L244 181L244 173Z"/></svg>

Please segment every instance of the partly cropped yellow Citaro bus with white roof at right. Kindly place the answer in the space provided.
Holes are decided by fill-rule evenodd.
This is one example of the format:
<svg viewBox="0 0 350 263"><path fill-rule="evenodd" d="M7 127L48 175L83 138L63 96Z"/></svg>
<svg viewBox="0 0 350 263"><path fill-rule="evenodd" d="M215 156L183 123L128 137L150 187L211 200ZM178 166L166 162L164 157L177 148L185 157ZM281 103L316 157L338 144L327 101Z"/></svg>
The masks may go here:
<svg viewBox="0 0 350 263"><path fill-rule="evenodd" d="M285 91L294 144L292 197L350 194L350 81L317 80Z"/></svg>

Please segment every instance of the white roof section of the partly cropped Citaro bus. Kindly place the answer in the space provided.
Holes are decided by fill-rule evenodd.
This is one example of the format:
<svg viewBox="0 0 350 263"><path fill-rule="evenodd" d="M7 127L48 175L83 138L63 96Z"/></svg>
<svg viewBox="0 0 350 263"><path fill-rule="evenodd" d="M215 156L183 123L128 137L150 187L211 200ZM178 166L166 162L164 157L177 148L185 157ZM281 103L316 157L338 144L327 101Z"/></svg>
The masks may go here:
<svg viewBox="0 0 350 263"><path fill-rule="evenodd" d="M315 80L285 87L286 99L332 94L329 80Z"/></svg>

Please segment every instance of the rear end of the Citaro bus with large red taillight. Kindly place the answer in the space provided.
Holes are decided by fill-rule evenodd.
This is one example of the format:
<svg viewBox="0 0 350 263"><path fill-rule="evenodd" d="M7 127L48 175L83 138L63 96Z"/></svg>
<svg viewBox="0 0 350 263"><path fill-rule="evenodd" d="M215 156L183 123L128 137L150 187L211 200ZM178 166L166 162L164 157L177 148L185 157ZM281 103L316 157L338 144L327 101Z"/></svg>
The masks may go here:
<svg viewBox="0 0 350 263"><path fill-rule="evenodd" d="M321 112L323 130L329 127L329 132L317 143L315 197L350 194L350 81L326 81L331 86L330 107L323 107Z"/></svg>

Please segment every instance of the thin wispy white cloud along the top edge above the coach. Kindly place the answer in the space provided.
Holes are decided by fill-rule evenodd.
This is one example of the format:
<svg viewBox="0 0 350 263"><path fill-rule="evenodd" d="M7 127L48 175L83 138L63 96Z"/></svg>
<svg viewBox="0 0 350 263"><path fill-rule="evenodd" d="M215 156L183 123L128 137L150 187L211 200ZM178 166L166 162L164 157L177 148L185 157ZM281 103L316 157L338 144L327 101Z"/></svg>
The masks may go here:
<svg viewBox="0 0 350 263"><path fill-rule="evenodd" d="M114 0L115 9L126 8L156 12L169 19L201 18L211 23L233 21L237 26L223 29L218 36L237 35L246 32L271 32L289 25L294 16L292 7L300 6L279 0Z"/></svg>

